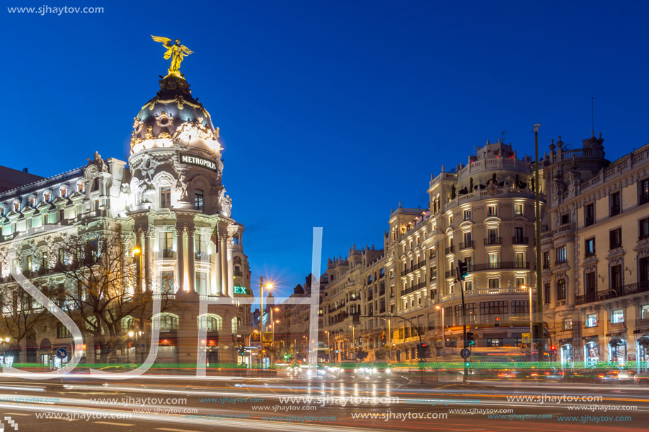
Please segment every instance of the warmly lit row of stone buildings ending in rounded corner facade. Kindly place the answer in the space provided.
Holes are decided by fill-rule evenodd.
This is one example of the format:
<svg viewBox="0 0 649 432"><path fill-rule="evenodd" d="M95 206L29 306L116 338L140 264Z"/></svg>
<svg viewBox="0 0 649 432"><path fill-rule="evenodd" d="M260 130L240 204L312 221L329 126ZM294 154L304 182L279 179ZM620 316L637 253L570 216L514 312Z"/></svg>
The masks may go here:
<svg viewBox="0 0 649 432"><path fill-rule="evenodd" d="M458 260L469 266L466 324L476 339L474 355L526 354L527 287L536 257L532 168L532 159L517 158L511 146L488 142L466 165L452 172L442 165L430 180L427 209L393 209L383 250L353 247L346 259L330 259L325 328L335 339L336 360L367 351L368 361L413 361L419 334L429 358L457 358ZM377 317L386 314L409 321Z"/></svg>

